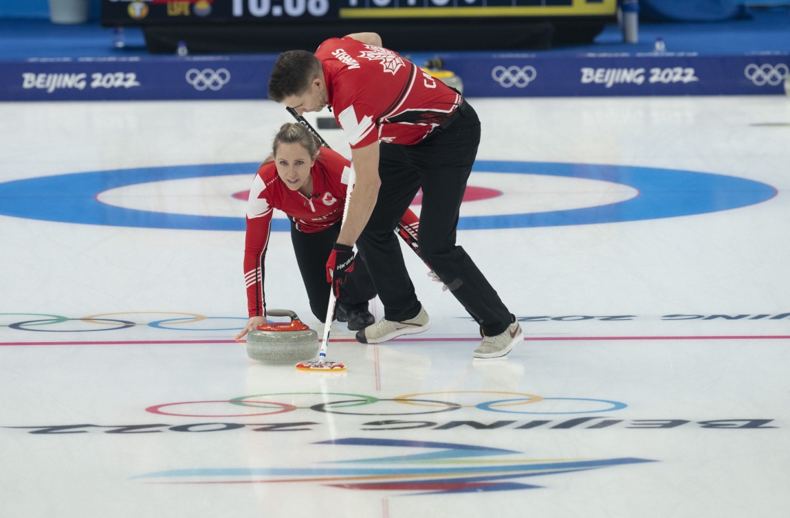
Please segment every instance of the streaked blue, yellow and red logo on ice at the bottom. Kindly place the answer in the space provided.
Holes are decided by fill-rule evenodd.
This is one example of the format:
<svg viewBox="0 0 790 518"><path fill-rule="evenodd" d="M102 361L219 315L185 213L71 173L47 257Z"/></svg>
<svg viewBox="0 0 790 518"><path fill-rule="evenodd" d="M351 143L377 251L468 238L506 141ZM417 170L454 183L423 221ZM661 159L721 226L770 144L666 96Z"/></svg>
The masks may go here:
<svg viewBox="0 0 790 518"><path fill-rule="evenodd" d="M448 494L536 489L521 479L589 471L654 460L527 459L508 449L449 442L399 441L349 437L314 443L334 446L429 449L411 455L316 463L317 467L201 468L156 471L133 479L167 484L319 483L348 490L405 491L407 494Z"/></svg>

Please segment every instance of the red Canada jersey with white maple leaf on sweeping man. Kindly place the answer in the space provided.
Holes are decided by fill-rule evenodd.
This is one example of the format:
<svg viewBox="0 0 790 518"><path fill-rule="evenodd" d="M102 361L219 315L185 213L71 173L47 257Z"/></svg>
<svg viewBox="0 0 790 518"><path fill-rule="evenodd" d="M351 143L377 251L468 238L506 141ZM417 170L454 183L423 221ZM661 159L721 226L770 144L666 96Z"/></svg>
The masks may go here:
<svg viewBox="0 0 790 518"><path fill-rule="evenodd" d="M332 38L315 57L324 67L327 102L352 148L418 144L461 104L452 88L384 47Z"/></svg>

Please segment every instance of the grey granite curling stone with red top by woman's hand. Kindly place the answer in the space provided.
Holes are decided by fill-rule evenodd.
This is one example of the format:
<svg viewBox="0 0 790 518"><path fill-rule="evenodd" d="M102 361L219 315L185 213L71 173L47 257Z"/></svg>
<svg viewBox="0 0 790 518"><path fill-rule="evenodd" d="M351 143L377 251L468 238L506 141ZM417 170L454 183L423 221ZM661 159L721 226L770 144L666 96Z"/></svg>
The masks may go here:
<svg viewBox="0 0 790 518"><path fill-rule="evenodd" d="M291 310L268 310L270 317L291 317L290 322L259 325L247 333L247 356L264 363L305 362L318 356L318 332L304 325Z"/></svg>

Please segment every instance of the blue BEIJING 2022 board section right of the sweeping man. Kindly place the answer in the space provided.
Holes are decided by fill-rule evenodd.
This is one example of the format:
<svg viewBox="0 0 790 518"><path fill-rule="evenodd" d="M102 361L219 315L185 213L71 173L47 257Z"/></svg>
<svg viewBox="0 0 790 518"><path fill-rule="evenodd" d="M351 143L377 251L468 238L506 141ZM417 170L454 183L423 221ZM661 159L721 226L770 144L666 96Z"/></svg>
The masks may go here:
<svg viewBox="0 0 790 518"><path fill-rule="evenodd" d="M442 56L468 96L715 96L784 93L790 55Z"/></svg>

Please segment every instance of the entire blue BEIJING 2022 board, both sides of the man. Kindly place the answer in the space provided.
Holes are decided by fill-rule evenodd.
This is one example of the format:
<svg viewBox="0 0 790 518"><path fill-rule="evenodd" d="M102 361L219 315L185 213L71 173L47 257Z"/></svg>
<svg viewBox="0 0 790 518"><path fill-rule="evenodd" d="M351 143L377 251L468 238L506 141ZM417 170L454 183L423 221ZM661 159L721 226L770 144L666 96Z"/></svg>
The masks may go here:
<svg viewBox="0 0 790 518"><path fill-rule="evenodd" d="M265 99L276 54L0 62L0 101ZM790 55L438 54L469 97L782 94Z"/></svg>

